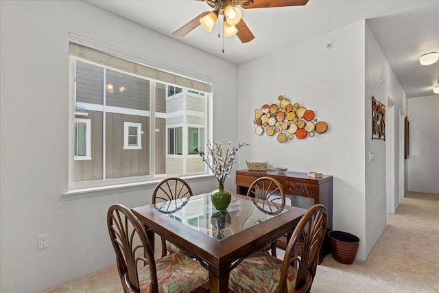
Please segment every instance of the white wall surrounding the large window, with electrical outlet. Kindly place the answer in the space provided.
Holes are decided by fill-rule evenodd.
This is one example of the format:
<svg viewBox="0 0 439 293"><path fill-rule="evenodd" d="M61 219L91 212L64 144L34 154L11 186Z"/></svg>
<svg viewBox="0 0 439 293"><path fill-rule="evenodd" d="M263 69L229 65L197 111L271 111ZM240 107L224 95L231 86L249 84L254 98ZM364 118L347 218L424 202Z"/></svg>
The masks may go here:
<svg viewBox="0 0 439 293"><path fill-rule="evenodd" d="M64 200L69 32L213 78L215 140L237 141L237 66L84 1L0 1L1 288L38 292L115 263L106 228L114 202L150 202L154 186ZM235 179L226 187L235 190ZM191 181L195 193L213 180ZM49 233L50 247L37 249Z"/></svg>

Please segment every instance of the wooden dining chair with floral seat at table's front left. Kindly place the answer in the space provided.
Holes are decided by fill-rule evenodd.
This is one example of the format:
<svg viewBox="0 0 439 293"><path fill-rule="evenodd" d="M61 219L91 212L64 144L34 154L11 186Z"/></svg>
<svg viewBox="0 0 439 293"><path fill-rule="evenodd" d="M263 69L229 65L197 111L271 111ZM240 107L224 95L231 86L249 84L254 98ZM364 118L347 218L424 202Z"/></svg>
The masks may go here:
<svg viewBox="0 0 439 293"><path fill-rule="evenodd" d="M108 233L115 249L123 292L207 292L209 272L179 253L154 259L154 250L134 213L112 204L107 213Z"/></svg>

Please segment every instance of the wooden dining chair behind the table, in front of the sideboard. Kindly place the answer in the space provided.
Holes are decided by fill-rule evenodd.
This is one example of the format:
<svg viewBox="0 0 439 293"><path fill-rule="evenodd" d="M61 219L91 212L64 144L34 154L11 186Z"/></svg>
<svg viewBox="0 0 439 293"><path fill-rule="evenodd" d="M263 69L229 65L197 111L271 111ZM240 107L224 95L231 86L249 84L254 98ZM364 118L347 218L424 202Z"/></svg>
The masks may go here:
<svg viewBox="0 0 439 293"><path fill-rule="evenodd" d="M278 180L276 180L276 178L268 176L259 177L254 180L250 187L248 187L247 196L270 202L278 202L282 205L285 204L285 192L283 190L283 186ZM275 211L277 212L278 209L275 209ZM261 250L271 250L272 255L276 257L276 241L268 244L268 246L265 246Z"/></svg>

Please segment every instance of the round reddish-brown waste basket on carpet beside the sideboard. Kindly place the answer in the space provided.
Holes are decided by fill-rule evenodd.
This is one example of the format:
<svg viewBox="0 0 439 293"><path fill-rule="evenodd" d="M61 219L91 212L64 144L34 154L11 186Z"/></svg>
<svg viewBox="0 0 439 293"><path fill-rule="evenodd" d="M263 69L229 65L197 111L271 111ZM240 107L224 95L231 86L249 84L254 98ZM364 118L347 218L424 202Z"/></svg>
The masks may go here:
<svg viewBox="0 0 439 293"><path fill-rule="evenodd" d="M339 263L352 264L357 256L359 238L342 231L329 231L328 236L334 259Z"/></svg>

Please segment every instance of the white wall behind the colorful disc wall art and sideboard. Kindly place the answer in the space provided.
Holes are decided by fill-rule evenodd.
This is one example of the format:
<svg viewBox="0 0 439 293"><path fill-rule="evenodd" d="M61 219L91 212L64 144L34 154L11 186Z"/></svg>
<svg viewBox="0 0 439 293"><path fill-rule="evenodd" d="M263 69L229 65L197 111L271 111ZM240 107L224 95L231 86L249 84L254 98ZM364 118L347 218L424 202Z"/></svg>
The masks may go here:
<svg viewBox="0 0 439 293"><path fill-rule="evenodd" d="M333 228L360 238L366 259L364 30L360 21L239 66L239 139L251 147L239 158L268 160L269 167L333 176ZM333 43L332 49L326 44ZM314 110L324 134L278 143L254 133L253 111L278 104L278 95Z"/></svg>

